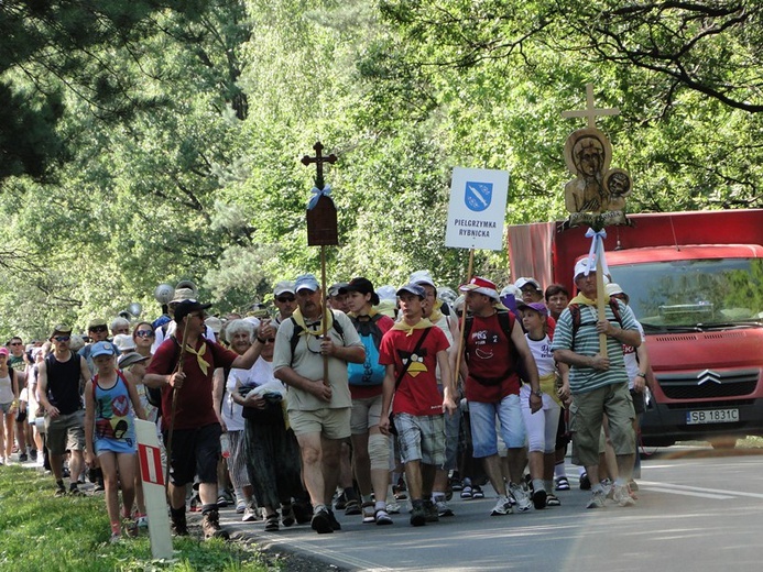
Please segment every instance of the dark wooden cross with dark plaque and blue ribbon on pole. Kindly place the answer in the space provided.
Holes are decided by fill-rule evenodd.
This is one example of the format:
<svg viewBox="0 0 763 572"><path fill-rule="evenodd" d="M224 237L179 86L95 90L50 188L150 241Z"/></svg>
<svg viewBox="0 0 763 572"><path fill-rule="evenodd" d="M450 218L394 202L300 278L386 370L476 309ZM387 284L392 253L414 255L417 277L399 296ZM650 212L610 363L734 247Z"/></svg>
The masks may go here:
<svg viewBox="0 0 763 572"><path fill-rule="evenodd" d="M312 190L312 197L307 205L307 245L320 246L320 290L321 298L321 316L323 319L323 337L328 334L326 319L326 246L339 244L339 232L337 226L337 208L331 199L331 187L324 182L324 163L330 165L337 162L337 156L331 153L328 156L323 155L324 146L318 141L313 145L315 156L305 155L302 157L302 164L309 167L312 164L316 166L315 187ZM324 384L329 385L328 380L328 356L324 355Z"/></svg>

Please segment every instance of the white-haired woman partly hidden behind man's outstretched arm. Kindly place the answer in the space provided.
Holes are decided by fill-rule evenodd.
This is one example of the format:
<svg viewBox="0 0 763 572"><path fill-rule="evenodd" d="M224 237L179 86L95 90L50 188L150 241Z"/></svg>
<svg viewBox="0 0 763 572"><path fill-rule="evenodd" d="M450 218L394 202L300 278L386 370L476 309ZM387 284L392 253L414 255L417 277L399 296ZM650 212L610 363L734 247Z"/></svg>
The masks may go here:
<svg viewBox="0 0 763 572"><path fill-rule="evenodd" d="M230 349L239 355L243 355L254 341L257 321L231 320L226 327L226 336ZM228 472L236 491L236 512L242 514L243 522L257 519L257 513L252 505L252 485L247 470L247 455L243 442L244 420L243 408L232 399L236 387L236 377L231 370L228 378L224 380L222 370L215 372L215 408L222 425L224 437L228 446L222 447L222 455L228 457Z"/></svg>

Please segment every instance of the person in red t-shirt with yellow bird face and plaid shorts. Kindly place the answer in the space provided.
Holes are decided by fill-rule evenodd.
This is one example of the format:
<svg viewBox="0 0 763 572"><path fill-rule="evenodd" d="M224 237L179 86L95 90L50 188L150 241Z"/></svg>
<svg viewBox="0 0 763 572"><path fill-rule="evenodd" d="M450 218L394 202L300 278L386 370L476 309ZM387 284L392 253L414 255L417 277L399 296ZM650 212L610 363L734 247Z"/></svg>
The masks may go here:
<svg viewBox="0 0 763 572"><path fill-rule="evenodd" d="M413 526L438 519L430 497L436 469L445 462L443 413L453 415L456 411L453 397L455 386L447 354L450 344L443 331L423 317L425 296L426 293L417 284L408 284L397 290L403 319L384 334L379 351L379 363L386 366L379 429L389 435L389 414L393 406L400 458L405 465L405 480L413 505ZM435 375L438 365L443 395L437 388Z"/></svg>

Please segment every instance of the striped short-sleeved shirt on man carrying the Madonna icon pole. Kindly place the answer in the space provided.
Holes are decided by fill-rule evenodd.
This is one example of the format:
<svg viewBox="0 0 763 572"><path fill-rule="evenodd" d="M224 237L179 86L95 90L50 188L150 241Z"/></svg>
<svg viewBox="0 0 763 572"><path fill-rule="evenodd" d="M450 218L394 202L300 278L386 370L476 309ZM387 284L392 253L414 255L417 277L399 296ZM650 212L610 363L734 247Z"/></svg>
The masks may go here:
<svg viewBox="0 0 763 572"><path fill-rule="evenodd" d="M620 317L622 327L626 330L637 330L637 322L631 309L622 301L620 305ZM612 312L609 305L604 306L607 320L614 327L620 328L620 323ZM596 331L597 310L596 306L580 305L580 327L575 337L573 346L573 315L566 309L559 316L554 332L554 350L571 350L579 355L592 356L599 353L599 334ZM607 337L607 356L609 358L609 370L601 372L592 367L579 367L571 365L569 369L569 389L573 394L592 392L606 385L628 383L625 373L625 362L622 354L622 343L614 338Z"/></svg>

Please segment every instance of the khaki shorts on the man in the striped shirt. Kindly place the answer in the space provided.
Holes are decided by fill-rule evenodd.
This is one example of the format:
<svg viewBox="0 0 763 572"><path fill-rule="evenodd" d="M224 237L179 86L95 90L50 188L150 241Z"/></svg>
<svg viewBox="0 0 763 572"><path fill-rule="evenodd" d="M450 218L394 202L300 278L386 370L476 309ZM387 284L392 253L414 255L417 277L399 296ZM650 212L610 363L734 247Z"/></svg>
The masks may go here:
<svg viewBox="0 0 763 572"><path fill-rule="evenodd" d="M613 384L578 393L569 408L569 430L573 433L573 462L591 466L599 464L601 422L609 418L609 436L615 454L635 453L633 403L628 384Z"/></svg>

